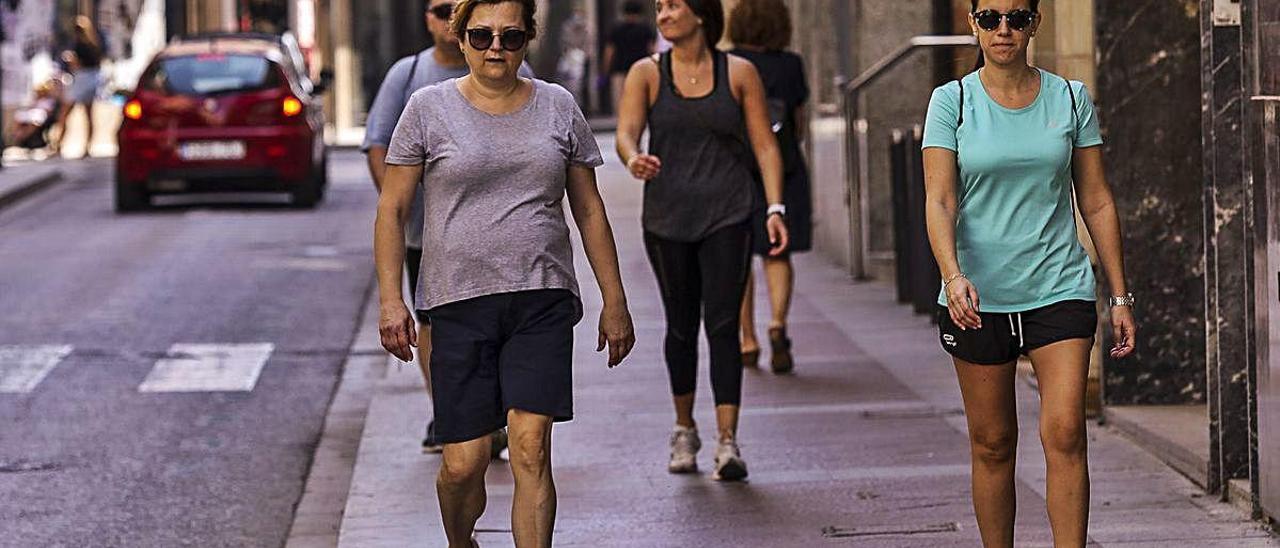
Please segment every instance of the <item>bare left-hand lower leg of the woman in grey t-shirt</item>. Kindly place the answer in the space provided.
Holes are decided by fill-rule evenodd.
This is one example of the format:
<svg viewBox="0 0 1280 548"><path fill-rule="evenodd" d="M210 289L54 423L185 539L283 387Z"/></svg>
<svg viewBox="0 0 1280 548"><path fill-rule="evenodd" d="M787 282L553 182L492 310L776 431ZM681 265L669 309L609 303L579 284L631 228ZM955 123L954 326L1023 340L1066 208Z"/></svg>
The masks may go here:
<svg viewBox="0 0 1280 548"><path fill-rule="evenodd" d="M440 519L449 548L471 548L476 521L488 498L484 472L489 467L489 437L444 444L435 493L440 499Z"/></svg>

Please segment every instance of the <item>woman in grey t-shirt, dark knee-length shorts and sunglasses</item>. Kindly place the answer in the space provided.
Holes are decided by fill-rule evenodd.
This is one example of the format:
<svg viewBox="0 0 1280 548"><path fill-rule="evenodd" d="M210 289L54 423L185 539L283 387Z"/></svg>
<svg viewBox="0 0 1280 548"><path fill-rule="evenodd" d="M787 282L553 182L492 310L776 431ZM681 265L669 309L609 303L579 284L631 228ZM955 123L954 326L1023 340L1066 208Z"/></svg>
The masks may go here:
<svg viewBox="0 0 1280 548"><path fill-rule="evenodd" d="M436 488L449 545L484 511L488 435L508 426L517 545L550 545L556 515L550 430L573 414L573 325L581 318L562 201L568 196L604 309L609 366L635 344L617 250L596 189L603 161L572 95L520 78L535 35L534 0L462 0L453 32L471 74L417 91L387 154L374 247L383 346L412 359L401 298L403 225L425 196L417 309L431 320Z"/></svg>

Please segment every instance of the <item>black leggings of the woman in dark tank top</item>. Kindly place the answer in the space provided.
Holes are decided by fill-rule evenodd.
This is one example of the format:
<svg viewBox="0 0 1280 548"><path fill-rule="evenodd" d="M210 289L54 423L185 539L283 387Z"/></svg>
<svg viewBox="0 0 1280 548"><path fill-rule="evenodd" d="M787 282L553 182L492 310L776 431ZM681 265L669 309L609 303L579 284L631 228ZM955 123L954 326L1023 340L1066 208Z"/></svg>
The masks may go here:
<svg viewBox="0 0 1280 548"><path fill-rule="evenodd" d="M722 228L699 242L675 242L645 232L644 243L667 311L664 353L672 394L687 396L696 388L698 323L705 307L716 405L740 405L739 311L751 264L750 225Z"/></svg>

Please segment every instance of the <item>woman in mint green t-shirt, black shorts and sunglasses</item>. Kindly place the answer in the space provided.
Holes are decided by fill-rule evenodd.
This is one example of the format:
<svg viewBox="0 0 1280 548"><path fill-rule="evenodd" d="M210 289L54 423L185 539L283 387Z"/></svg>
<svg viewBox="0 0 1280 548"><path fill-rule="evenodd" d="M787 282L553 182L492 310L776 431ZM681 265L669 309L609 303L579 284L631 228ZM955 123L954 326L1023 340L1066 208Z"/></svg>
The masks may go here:
<svg viewBox="0 0 1280 548"><path fill-rule="evenodd" d="M1089 479L1084 393L1096 286L1073 191L1111 291L1111 356L1133 352L1133 296L1102 138L1080 82L1027 61L1037 0L973 0L979 69L933 92L924 129L929 242L942 271L938 325L955 361L987 547L1014 544L1015 364L1039 380L1041 439L1056 545L1084 545Z"/></svg>

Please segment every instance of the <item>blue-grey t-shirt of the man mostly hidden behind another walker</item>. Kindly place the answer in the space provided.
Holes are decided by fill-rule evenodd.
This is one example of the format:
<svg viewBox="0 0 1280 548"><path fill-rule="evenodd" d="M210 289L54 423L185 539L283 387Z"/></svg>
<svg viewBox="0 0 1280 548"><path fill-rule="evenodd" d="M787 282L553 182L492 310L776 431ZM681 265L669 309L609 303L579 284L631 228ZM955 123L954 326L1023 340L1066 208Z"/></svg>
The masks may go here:
<svg viewBox="0 0 1280 548"><path fill-rule="evenodd" d="M416 68L413 67L415 59L417 60ZM361 145L361 150L367 152L369 149L375 146L389 146L392 143L392 132L396 131L396 122L399 120L401 113L404 111L404 105L408 104L408 97L415 91L449 78L465 77L470 72L471 69L465 64L460 67L444 67L438 63L435 60L435 47L428 47L417 55L407 55L396 61L387 70L387 77L383 78L383 85L378 88L374 104L369 108L369 119L365 122L365 142ZM530 78L534 76L527 63L520 67L520 76ZM410 78L413 81L410 82ZM413 196L413 207L410 210L408 223L404 225L404 247L422 247L421 188Z"/></svg>

